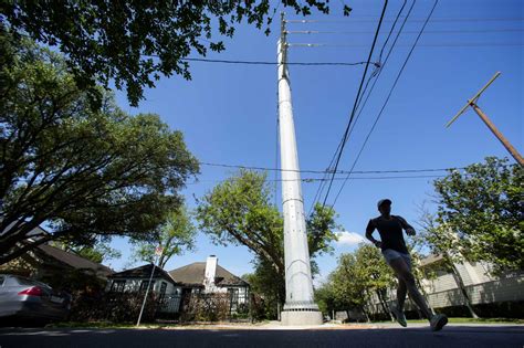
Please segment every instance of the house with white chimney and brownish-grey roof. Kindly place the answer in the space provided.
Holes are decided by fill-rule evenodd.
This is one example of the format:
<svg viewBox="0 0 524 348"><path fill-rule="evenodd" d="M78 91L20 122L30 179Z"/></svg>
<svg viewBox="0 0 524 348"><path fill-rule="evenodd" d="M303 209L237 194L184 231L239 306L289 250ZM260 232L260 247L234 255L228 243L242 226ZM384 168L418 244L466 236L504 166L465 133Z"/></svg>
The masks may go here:
<svg viewBox="0 0 524 348"><path fill-rule="evenodd" d="M181 287L184 297L190 294L229 294L231 312L249 303L250 285L218 264L218 257L210 255L206 262L195 262L169 272Z"/></svg>

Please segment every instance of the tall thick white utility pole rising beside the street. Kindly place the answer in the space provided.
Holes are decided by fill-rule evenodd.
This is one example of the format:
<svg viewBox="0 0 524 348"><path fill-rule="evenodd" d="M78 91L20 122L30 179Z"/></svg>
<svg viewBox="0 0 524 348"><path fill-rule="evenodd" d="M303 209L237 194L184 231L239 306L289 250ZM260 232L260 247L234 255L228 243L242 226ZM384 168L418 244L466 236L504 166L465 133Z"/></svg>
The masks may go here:
<svg viewBox="0 0 524 348"><path fill-rule="evenodd" d="M287 72L287 43L284 13L281 17L279 61L279 124L284 212L285 304L283 325L318 325L322 313L313 298L310 251L302 198L295 125Z"/></svg>

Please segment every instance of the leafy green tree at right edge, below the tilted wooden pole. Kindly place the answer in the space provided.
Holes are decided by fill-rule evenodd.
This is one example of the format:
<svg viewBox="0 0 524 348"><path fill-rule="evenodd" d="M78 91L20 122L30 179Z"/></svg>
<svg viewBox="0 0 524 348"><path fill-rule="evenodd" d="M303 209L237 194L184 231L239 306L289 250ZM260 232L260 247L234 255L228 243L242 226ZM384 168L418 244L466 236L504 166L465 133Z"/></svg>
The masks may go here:
<svg viewBox="0 0 524 348"><path fill-rule="evenodd" d="M524 270L523 179L521 166L488 157L436 180L438 211L428 245L436 253L489 262L494 273Z"/></svg>

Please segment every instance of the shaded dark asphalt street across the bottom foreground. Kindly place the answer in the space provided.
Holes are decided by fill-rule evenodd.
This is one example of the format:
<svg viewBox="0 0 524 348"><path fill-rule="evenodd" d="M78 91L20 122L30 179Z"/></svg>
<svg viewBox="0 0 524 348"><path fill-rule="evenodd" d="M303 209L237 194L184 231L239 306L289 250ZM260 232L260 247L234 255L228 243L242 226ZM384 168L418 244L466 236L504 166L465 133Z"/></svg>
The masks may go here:
<svg viewBox="0 0 524 348"><path fill-rule="evenodd" d="M0 348L20 347L524 347L523 326L379 329L1 328Z"/></svg>

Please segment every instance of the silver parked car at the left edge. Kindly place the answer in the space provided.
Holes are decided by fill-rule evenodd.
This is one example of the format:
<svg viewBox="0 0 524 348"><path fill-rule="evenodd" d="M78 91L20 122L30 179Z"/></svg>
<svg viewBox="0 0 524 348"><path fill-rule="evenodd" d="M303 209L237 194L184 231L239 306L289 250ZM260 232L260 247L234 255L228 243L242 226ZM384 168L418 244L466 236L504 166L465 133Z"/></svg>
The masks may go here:
<svg viewBox="0 0 524 348"><path fill-rule="evenodd" d="M27 277L0 274L0 318L64 320L71 295Z"/></svg>

